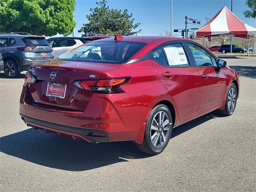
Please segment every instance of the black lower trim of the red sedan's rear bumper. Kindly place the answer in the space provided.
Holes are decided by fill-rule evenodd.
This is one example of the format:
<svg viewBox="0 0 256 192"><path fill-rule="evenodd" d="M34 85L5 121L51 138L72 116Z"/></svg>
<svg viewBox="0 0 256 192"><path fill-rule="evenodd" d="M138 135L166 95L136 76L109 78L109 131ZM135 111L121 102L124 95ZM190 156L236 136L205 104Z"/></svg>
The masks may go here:
<svg viewBox="0 0 256 192"><path fill-rule="evenodd" d="M20 113L21 119L35 129L42 129L46 132L53 132L60 136L71 136L74 140L82 139L87 142L110 142L108 132L101 130L90 130L84 128L77 128L38 120Z"/></svg>

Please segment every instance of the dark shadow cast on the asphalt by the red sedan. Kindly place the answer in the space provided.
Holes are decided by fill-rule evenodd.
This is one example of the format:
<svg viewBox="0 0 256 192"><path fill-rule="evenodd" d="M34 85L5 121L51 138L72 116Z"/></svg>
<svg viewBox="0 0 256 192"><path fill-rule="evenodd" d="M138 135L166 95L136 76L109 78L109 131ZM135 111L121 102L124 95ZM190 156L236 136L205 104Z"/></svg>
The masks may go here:
<svg viewBox="0 0 256 192"><path fill-rule="evenodd" d="M212 112L178 126L172 130L171 138L216 117L218 114ZM132 142L88 143L33 128L3 136L0 143L0 151L5 154L68 171L92 170L151 156L140 152Z"/></svg>

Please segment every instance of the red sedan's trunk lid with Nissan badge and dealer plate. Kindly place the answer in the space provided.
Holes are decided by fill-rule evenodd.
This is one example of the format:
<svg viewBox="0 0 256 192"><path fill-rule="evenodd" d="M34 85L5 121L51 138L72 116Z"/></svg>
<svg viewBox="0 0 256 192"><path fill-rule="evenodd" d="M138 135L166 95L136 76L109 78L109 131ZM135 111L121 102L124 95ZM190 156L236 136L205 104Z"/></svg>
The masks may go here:
<svg viewBox="0 0 256 192"><path fill-rule="evenodd" d="M34 65L28 72L36 76L36 83L29 84L30 102L56 110L85 110L92 91L80 90L74 84L78 80L95 82L104 71L113 70L120 64L93 62L67 62L53 60Z"/></svg>

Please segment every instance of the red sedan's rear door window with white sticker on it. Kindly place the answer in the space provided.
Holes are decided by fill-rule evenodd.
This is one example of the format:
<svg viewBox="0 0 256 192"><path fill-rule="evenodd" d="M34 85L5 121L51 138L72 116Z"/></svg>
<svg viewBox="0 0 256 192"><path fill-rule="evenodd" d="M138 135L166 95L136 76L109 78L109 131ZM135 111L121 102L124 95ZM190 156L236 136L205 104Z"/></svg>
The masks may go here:
<svg viewBox="0 0 256 192"><path fill-rule="evenodd" d="M184 67L190 66L185 50L180 43L164 46L153 52L154 60L163 66Z"/></svg>

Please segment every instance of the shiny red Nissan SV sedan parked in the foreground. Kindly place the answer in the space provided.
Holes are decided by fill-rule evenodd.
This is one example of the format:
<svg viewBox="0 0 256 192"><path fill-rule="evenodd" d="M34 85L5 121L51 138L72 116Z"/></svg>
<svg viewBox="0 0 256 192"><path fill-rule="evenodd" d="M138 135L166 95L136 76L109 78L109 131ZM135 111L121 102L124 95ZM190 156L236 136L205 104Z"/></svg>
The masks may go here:
<svg viewBox="0 0 256 192"><path fill-rule="evenodd" d="M238 91L236 71L195 41L116 34L31 66L20 115L35 129L159 154L173 127L217 109L231 115Z"/></svg>

